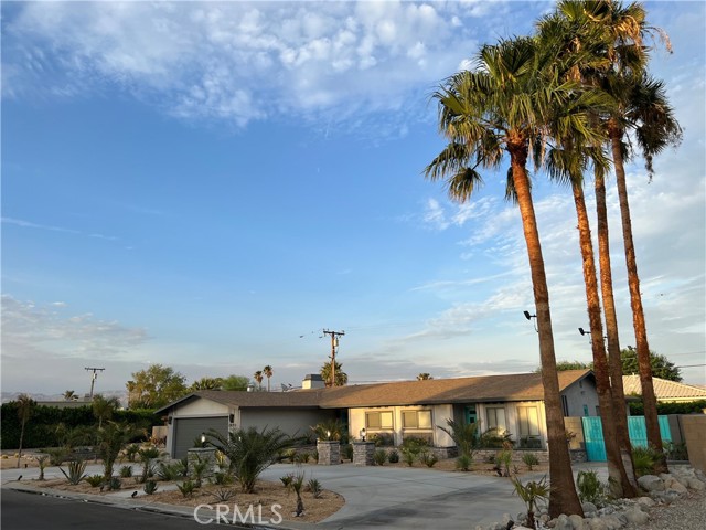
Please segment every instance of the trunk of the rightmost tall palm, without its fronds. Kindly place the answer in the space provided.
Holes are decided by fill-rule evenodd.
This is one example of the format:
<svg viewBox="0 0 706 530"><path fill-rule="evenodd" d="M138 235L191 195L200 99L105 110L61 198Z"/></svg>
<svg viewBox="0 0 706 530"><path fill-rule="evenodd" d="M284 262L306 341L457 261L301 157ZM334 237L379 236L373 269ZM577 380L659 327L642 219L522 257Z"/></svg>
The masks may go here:
<svg viewBox="0 0 706 530"><path fill-rule="evenodd" d="M628 287L630 290L630 305L632 307L632 326L635 332L635 348L638 350L638 365L640 371L640 384L642 386L642 401L644 403L644 422L648 431L648 443L661 455L659 463L661 473L666 473L666 458L662 449L662 436L657 421L657 402L652 383L652 368L650 367L650 344L648 343L648 330L644 324L644 310L642 308L642 295L640 295L640 276L638 275L638 262L632 241L632 222L630 219L630 205L628 203L628 186L625 183L625 168L622 160L622 130L611 124L610 139L616 168L616 183L618 184L618 200L620 201L620 219L622 221L622 237L625 247L625 264L628 267Z"/></svg>

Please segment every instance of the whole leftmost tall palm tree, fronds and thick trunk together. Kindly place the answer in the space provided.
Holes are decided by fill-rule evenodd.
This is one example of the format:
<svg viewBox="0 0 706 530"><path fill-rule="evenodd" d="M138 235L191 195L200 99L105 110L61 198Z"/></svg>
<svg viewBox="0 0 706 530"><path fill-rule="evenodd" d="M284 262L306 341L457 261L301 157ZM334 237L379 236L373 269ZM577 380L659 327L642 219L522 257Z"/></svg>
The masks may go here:
<svg viewBox="0 0 706 530"><path fill-rule="evenodd" d="M496 168L510 156L512 193L520 208L534 290L542 382L546 406L552 492L549 513L582 513L576 495L559 398L556 356L549 310L549 293L526 162L541 159L552 137L549 123L560 124L587 144L595 140L588 114L577 112L591 95L576 83L559 80L550 54L533 39L500 41L483 46L473 72L448 78L434 94L439 105L439 129L448 146L426 168L431 180L446 179L449 194L468 200L482 183L478 168ZM575 105L568 105L574 102ZM556 113L565 113L556 116Z"/></svg>

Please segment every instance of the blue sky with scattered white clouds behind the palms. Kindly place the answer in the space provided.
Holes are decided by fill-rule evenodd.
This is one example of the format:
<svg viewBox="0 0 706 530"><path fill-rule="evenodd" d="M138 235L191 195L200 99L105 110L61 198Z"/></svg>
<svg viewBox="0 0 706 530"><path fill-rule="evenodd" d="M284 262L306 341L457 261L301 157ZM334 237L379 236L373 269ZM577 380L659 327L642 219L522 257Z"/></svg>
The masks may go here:
<svg viewBox="0 0 706 530"><path fill-rule="evenodd" d="M439 83L552 7L2 2L2 391L85 393L86 367L125 390L153 363L297 386L323 330L353 383L535 370L506 165L463 204L422 173ZM706 384L706 4L646 8L684 128L652 181L627 168L649 341ZM534 179L556 357L589 362L571 194ZM625 347L613 179L608 201Z"/></svg>

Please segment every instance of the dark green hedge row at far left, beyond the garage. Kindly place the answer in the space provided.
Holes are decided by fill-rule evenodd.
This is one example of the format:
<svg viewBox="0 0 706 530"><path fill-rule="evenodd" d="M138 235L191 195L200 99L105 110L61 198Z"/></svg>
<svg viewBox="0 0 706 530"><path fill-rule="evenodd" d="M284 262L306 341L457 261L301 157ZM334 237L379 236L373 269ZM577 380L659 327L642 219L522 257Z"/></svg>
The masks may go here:
<svg viewBox="0 0 706 530"><path fill-rule="evenodd" d="M17 449L20 446L21 424L18 416L18 404L12 401L4 403L0 410L2 417L2 435L0 448ZM115 411L113 421L130 423L138 428L150 428L152 425L163 425L162 420L149 410ZM56 433L58 424L66 428L90 427L97 425L90 405L74 409L58 409L55 406L34 406L30 421L24 427L24 448L57 447L60 436Z"/></svg>

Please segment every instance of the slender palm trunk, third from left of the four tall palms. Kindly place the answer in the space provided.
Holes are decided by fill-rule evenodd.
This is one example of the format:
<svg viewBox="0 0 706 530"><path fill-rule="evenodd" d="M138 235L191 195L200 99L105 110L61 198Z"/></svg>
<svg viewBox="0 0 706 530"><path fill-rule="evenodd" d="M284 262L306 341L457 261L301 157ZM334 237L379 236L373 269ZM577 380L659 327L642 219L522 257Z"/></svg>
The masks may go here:
<svg viewBox="0 0 706 530"><path fill-rule="evenodd" d="M608 233L608 208L606 206L606 181L600 171L595 173L596 216L598 219L598 262L600 268L600 287L606 315L606 335L608 336L608 369L610 372L610 389L613 396L613 421L616 435L620 447L628 479L637 494L638 480L632 463L632 447L628 432L628 409L625 406L625 391L622 384L622 362L620 359L620 339L618 336L618 317L613 297L613 277L610 265L610 239ZM624 491L629 496L630 491Z"/></svg>

